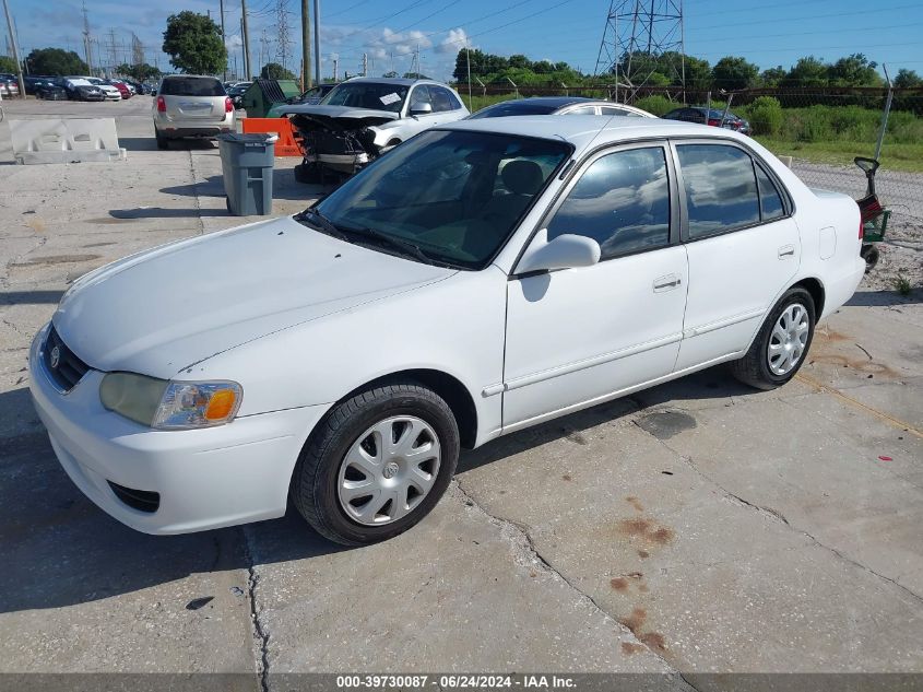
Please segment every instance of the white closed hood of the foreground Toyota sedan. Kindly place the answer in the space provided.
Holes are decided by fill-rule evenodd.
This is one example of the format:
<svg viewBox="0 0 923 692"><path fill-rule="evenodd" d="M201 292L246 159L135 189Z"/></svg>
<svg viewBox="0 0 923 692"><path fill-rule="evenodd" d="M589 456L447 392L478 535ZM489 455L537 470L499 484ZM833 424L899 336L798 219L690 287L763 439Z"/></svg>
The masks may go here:
<svg viewBox="0 0 923 692"><path fill-rule="evenodd" d="M453 273L284 216L102 267L74 282L52 321L90 366L166 379L269 333Z"/></svg>

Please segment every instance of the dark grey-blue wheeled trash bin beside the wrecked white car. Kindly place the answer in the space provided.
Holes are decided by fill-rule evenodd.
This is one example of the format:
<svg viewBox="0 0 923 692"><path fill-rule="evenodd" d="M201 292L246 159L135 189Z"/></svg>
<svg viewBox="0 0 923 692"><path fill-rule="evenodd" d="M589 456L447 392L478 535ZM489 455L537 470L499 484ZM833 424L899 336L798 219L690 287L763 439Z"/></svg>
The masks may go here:
<svg viewBox="0 0 923 692"><path fill-rule="evenodd" d="M272 213L272 167L276 134L227 132L218 136L227 211L235 216Z"/></svg>

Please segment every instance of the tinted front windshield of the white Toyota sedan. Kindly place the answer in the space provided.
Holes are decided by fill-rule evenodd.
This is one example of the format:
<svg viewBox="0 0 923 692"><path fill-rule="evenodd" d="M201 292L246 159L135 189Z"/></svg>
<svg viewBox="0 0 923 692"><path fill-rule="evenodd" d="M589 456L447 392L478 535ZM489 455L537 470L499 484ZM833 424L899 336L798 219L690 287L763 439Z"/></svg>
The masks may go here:
<svg viewBox="0 0 923 692"><path fill-rule="evenodd" d="M346 233L389 236L435 261L482 269L571 151L563 141L429 130L315 210Z"/></svg>

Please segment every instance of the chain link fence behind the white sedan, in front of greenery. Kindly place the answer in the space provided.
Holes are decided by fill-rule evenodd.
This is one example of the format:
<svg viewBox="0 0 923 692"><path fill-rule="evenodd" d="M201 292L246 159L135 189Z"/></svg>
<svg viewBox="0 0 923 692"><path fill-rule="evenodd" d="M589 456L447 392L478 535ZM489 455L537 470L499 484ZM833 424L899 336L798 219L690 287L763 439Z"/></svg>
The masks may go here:
<svg viewBox="0 0 923 692"><path fill-rule="evenodd" d="M472 110L528 96L587 96L620 101L662 116L683 105L706 106L746 119L752 136L810 187L863 197L865 174L855 156L874 157L888 97L878 87L752 89L733 93L623 85L518 86L459 84ZM876 187L891 210L890 231L923 249L923 89L892 90ZM730 105L729 105L730 99Z"/></svg>

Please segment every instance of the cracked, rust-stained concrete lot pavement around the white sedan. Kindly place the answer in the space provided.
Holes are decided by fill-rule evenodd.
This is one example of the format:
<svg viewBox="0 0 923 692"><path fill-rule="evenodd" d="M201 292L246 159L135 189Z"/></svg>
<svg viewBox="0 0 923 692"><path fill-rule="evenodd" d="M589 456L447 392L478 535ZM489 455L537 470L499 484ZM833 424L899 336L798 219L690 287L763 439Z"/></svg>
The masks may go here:
<svg viewBox="0 0 923 692"><path fill-rule="evenodd" d="M150 103L4 103L115 114L129 154L0 165L0 672L923 672L919 289L861 290L782 389L706 371L466 453L387 543L334 547L297 513L180 537L110 519L33 412L29 339L90 269L246 221L215 145L156 150ZM277 161L274 212L298 211L319 188Z"/></svg>

